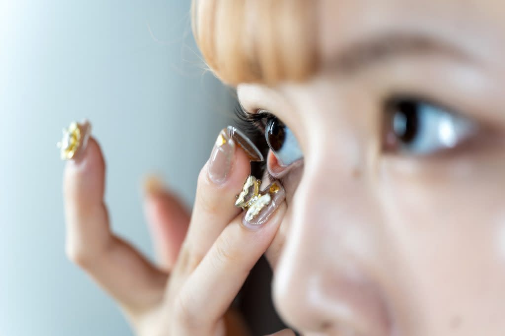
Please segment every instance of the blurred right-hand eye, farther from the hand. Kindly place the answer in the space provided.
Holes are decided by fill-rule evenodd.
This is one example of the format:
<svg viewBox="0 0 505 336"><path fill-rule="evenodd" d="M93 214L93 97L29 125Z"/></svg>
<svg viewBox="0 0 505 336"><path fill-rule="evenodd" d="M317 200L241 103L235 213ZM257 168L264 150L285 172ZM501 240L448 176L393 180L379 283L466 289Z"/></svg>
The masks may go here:
<svg viewBox="0 0 505 336"><path fill-rule="evenodd" d="M429 155L451 149L475 132L472 121L420 99L395 99L386 104L386 151Z"/></svg>

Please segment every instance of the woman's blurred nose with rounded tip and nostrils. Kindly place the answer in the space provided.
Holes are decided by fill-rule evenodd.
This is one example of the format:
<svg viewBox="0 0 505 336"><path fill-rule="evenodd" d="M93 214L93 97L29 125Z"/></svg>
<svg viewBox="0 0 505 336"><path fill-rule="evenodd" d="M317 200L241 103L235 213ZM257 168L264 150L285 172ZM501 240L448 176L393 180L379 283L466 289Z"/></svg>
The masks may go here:
<svg viewBox="0 0 505 336"><path fill-rule="evenodd" d="M366 176L325 165L306 162L289 205L276 308L302 333L388 335L390 314L374 267L380 216L373 193Z"/></svg>

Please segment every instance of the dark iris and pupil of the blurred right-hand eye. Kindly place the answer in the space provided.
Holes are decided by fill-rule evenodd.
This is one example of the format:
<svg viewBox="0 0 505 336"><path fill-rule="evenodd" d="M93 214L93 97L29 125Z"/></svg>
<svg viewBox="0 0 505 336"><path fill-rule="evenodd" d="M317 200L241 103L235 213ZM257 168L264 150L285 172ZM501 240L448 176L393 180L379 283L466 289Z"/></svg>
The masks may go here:
<svg viewBox="0 0 505 336"><path fill-rule="evenodd" d="M411 101L398 102L393 115L393 131L403 143L412 142L418 132L418 104Z"/></svg>

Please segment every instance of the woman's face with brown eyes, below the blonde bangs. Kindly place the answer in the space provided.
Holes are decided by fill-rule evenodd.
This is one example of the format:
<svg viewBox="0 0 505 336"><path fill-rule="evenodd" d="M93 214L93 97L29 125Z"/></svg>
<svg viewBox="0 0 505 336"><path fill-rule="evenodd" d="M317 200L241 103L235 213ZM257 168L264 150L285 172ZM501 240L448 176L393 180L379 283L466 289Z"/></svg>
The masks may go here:
<svg viewBox="0 0 505 336"><path fill-rule="evenodd" d="M320 3L320 72L238 87L286 125L279 313L304 334L502 335L505 5Z"/></svg>

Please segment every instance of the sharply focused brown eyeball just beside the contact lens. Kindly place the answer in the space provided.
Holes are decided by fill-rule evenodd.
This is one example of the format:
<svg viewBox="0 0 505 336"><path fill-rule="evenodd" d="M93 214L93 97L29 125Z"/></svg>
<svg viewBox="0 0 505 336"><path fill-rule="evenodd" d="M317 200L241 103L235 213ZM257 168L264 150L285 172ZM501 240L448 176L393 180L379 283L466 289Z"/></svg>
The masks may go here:
<svg viewBox="0 0 505 336"><path fill-rule="evenodd" d="M303 157L294 134L274 116L267 119L265 138L280 165L289 166Z"/></svg>

